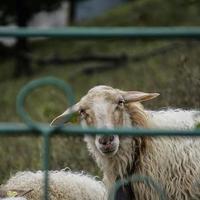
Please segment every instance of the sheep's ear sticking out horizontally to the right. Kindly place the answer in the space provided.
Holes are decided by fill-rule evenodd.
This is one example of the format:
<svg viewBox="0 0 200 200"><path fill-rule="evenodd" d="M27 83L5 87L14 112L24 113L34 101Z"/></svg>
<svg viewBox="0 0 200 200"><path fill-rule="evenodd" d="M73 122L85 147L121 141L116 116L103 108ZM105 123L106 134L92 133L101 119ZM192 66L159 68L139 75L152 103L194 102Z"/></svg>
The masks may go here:
<svg viewBox="0 0 200 200"><path fill-rule="evenodd" d="M145 93L139 91L122 92L122 96L127 103L148 101L150 99L156 98L159 95L159 93Z"/></svg>

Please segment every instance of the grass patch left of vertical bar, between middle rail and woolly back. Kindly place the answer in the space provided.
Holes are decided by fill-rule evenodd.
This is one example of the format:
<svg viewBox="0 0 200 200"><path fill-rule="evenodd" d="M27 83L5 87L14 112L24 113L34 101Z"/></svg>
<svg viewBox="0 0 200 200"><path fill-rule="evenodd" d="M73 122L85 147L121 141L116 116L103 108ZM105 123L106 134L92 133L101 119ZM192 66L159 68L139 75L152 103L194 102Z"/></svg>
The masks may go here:
<svg viewBox="0 0 200 200"><path fill-rule="evenodd" d="M0 180L19 170L41 169L41 139L36 137L2 137L0 140Z"/></svg>

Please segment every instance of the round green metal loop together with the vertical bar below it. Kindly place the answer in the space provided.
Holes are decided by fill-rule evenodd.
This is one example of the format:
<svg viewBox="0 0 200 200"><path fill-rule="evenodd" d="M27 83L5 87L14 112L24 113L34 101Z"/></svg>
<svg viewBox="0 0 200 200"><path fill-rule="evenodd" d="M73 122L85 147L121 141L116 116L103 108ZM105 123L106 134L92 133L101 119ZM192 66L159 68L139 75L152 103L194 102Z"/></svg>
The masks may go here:
<svg viewBox="0 0 200 200"><path fill-rule="evenodd" d="M36 88L42 87L42 86L49 86L53 85L56 86L57 88L61 89L65 96L68 99L69 105L74 104L74 95L71 87L65 83L62 80L59 80L54 77L47 77L47 78L42 78L38 80L34 80L29 82L27 85L25 85L20 92L18 93L17 100L16 100L16 108L17 108L17 113L19 116L22 118L22 120L31 128L32 130L36 130L42 133L43 139L44 139L44 144L43 144L43 167L45 171L45 176L44 176L44 199L48 200L48 168L49 168L49 138L50 134L54 131L54 129L50 127L44 127L41 126L40 123L35 123L30 115L25 111L24 104L25 104L25 99L26 97ZM71 117L71 116L68 116Z"/></svg>

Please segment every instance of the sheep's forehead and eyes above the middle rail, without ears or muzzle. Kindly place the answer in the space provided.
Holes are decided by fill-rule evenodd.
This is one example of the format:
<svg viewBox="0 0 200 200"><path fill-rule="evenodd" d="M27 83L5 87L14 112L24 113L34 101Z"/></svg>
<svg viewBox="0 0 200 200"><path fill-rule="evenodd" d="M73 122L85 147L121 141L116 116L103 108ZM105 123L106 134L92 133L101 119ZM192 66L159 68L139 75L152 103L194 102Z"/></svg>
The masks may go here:
<svg viewBox="0 0 200 200"><path fill-rule="evenodd" d="M102 87L100 87L102 88ZM124 99L115 90L95 87L79 102L82 126L114 128L123 125Z"/></svg>

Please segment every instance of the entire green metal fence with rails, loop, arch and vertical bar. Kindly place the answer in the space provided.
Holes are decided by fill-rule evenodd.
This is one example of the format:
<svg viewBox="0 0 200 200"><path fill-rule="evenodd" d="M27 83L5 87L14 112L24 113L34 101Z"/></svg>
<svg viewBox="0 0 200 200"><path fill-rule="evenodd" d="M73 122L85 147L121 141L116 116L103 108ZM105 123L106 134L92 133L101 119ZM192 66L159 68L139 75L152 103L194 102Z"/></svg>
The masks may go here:
<svg viewBox="0 0 200 200"><path fill-rule="evenodd" d="M200 28L198 27L142 27L142 28L65 28L65 29L33 29L33 28L0 28L0 37L65 37L71 39L105 39L105 38L200 38ZM28 132L40 135L44 139L43 144L43 165L45 170L45 191L44 199L48 200L48 167L49 167L49 139L54 134L64 134L66 136L104 134L104 135L132 135L132 136L200 136L200 129L194 131L160 131L134 128L119 128L115 130L81 128L80 126L66 126L51 128L48 124L40 124L33 122L24 109L24 102L27 95L34 89L45 86L54 85L63 90L70 105L74 103L74 96L71 87L62 80L48 77L32 81L25 85L17 97L17 112L21 116L24 123L0 123L0 136L2 135L28 135ZM70 116L69 116L70 117ZM164 191L149 177L136 176L129 177L126 181L142 181L145 184L154 187L158 192L160 199L166 199ZM115 187L120 187L122 183L117 182ZM111 192L110 199L115 199L115 192Z"/></svg>

